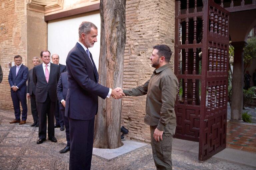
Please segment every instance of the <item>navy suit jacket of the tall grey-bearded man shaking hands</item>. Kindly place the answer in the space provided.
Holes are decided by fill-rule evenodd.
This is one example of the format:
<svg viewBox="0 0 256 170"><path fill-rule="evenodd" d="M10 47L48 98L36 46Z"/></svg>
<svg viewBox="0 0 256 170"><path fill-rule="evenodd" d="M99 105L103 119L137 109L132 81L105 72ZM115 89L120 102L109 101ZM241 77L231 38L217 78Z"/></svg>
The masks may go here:
<svg viewBox="0 0 256 170"><path fill-rule="evenodd" d="M78 42L69 51L66 64L68 93L65 116L77 120L91 120L97 114L98 96L105 99L109 88L98 84L96 66Z"/></svg>

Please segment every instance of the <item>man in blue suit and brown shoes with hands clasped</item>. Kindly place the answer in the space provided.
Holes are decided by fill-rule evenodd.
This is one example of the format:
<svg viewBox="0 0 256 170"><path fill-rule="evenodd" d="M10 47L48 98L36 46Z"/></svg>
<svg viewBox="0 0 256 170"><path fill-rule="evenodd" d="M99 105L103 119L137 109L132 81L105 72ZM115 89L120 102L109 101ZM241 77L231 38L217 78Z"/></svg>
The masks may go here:
<svg viewBox="0 0 256 170"><path fill-rule="evenodd" d="M15 113L15 119L10 122L23 125L27 120L27 99L26 99L26 82L28 80L28 67L22 64L22 57L14 57L15 66L11 67L8 81L11 86L11 97ZM22 106L22 120L20 121L20 103Z"/></svg>

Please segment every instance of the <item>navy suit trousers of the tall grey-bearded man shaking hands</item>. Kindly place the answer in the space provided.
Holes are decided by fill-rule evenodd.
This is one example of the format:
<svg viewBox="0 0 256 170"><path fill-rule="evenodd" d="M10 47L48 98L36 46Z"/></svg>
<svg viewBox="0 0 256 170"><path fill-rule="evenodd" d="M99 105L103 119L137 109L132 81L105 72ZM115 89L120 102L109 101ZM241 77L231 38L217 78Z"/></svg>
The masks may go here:
<svg viewBox="0 0 256 170"><path fill-rule="evenodd" d="M92 161L94 118L68 118L70 128L69 170L90 170Z"/></svg>

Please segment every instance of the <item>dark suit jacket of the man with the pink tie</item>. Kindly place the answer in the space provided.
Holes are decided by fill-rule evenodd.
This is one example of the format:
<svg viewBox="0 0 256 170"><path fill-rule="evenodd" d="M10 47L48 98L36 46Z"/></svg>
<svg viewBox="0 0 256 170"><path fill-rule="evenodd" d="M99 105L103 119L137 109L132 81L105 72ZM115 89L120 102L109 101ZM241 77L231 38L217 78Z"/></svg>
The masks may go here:
<svg viewBox="0 0 256 170"><path fill-rule="evenodd" d="M47 83L42 64L33 68L33 81L36 85L36 102L43 103L49 94L50 100L56 102L56 88L60 77L60 68L51 63L49 81Z"/></svg>

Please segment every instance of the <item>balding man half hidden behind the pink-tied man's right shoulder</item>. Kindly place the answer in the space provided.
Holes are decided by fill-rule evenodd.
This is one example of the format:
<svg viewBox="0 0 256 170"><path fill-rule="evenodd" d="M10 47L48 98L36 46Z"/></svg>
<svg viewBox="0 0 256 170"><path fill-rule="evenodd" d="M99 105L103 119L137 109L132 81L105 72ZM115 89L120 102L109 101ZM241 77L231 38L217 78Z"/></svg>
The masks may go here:
<svg viewBox="0 0 256 170"><path fill-rule="evenodd" d="M60 57L58 54L52 54L52 62L54 64L59 65L60 73L63 73L64 71L66 71L66 65L60 64L59 60L60 60ZM54 128L60 128L60 130L63 131L65 128L64 128L64 122L63 122L62 115L60 114L59 102L60 101L58 101L58 100L56 102L56 108L55 108L56 125L54 126Z"/></svg>

